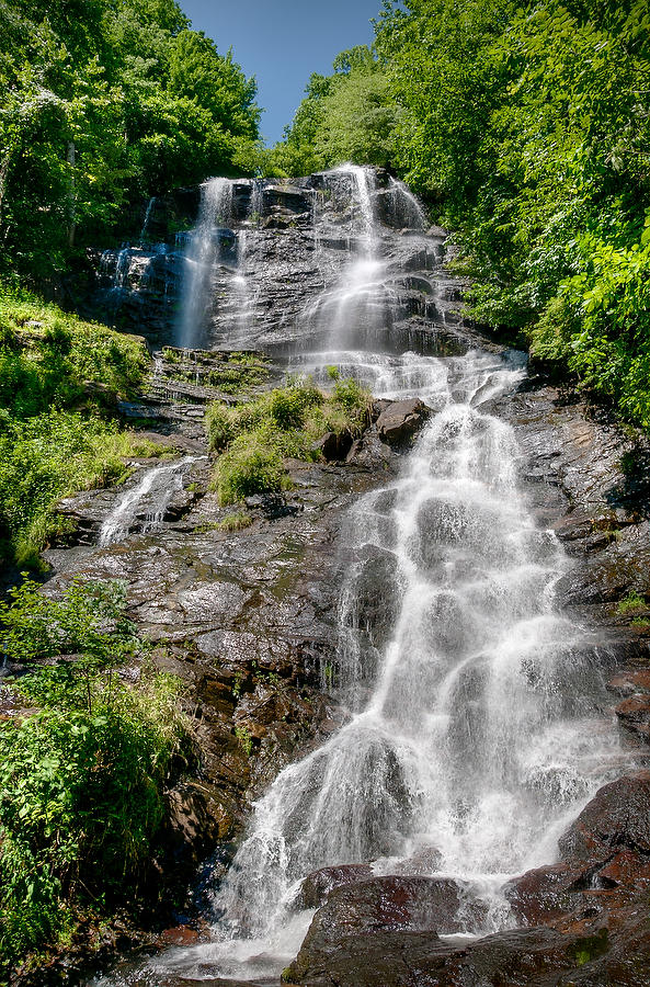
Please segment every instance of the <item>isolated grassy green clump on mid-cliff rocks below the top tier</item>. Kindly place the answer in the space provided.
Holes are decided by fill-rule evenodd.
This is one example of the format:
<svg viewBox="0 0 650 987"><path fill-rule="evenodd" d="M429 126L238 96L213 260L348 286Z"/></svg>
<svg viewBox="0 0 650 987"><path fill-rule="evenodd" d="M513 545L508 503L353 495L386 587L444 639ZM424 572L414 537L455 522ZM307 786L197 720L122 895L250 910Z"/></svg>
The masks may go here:
<svg viewBox="0 0 650 987"><path fill-rule="evenodd" d="M326 432L358 432L369 399L352 378L337 378L331 394L306 378L254 401L237 406L215 401L205 421L209 449L221 453L213 478L220 502L286 488L284 457L313 460L318 455L315 442Z"/></svg>

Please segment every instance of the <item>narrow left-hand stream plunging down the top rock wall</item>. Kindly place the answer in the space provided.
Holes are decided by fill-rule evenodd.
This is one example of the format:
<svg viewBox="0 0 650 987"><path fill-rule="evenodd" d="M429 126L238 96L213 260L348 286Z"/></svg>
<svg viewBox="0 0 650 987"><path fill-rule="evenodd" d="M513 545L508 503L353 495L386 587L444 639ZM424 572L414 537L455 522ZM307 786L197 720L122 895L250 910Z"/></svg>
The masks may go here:
<svg viewBox="0 0 650 987"><path fill-rule="evenodd" d="M185 273L179 327L179 345L192 349L201 342L210 307L213 269L220 259L216 226L232 214L232 182L214 178L201 186L196 227L186 239Z"/></svg>

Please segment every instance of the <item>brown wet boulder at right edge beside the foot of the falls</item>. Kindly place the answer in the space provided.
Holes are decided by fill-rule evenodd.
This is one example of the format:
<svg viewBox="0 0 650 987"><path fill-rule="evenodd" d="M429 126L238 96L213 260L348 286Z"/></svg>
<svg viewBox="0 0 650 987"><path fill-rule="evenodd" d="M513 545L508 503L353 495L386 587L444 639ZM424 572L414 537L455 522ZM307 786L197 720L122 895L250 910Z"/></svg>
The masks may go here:
<svg viewBox="0 0 650 987"><path fill-rule="evenodd" d="M602 787L558 847L565 861L604 860L620 850L650 855L650 771Z"/></svg>

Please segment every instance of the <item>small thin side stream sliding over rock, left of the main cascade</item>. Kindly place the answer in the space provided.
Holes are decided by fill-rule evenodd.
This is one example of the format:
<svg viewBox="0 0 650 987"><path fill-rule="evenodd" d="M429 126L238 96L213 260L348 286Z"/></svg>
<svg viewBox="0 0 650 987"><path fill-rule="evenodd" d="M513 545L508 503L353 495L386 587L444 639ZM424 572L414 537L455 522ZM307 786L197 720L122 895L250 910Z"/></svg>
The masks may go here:
<svg viewBox="0 0 650 987"><path fill-rule="evenodd" d="M100 529L99 544L102 547L121 542L136 526L140 532L152 531L163 520L175 492L183 488L183 474L187 466L195 463L197 456L185 456L176 463L166 466L152 466L147 469L139 484L127 490L117 501Z"/></svg>

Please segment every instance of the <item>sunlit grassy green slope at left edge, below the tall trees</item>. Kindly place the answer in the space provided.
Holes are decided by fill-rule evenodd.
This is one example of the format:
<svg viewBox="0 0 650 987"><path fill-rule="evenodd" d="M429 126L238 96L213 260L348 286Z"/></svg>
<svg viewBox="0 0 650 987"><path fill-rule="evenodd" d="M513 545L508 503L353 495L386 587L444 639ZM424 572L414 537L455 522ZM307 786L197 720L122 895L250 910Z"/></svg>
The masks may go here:
<svg viewBox="0 0 650 987"><path fill-rule="evenodd" d="M142 342L30 295L0 294L0 560L37 566L55 506L159 446L119 430L111 404L148 368Z"/></svg>

